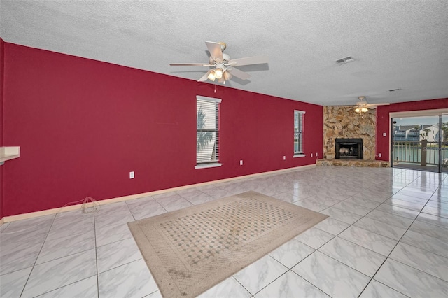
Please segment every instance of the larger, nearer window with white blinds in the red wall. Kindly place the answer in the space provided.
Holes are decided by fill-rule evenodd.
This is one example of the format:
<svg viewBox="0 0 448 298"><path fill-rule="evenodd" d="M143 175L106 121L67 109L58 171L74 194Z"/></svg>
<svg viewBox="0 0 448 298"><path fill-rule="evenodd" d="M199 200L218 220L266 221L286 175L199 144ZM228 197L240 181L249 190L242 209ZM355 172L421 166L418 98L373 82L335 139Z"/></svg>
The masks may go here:
<svg viewBox="0 0 448 298"><path fill-rule="evenodd" d="M221 166L219 163L219 108L221 99L196 97L195 169Z"/></svg>

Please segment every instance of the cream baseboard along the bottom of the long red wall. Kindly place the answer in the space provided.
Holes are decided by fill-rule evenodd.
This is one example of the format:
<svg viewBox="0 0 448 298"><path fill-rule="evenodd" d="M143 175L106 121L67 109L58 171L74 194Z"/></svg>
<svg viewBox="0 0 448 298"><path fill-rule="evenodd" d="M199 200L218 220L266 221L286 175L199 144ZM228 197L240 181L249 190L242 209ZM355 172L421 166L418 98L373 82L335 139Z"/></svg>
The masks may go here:
<svg viewBox="0 0 448 298"><path fill-rule="evenodd" d="M304 169L309 169L311 167L316 167L316 164L309 164L306 166L296 166L294 168L268 171L268 172L263 172L263 173L254 173L254 174L250 174L250 175L246 175L246 176L238 176L238 177L225 178L225 179L221 179L221 180L214 180L214 181L209 181L209 182L204 182L204 183L172 187L172 188L167 188L166 190L155 190L153 192L144 192L141 194L130 194L128 196L123 196L123 197L103 199L101 201L96 201L96 203L99 205L112 204L112 203L117 203L119 201L129 201L131 199L139 199L142 197L149 197L149 196L153 196L155 194L164 194L166 192L175 192L177 190L186 190L188 188L193 188L193 187L213 185L216 183L235 181L235 180L244 179L244 178L268 175L268 174L272 174L272 173L283 173L286 171L304 170ZM87 205L87 207L93 206L92 203L88 203L86 205ZM71 205L71 206L66 206L66 207L47 209L47 210L43 210L43 211L36 211L36 212L30 212L30 213L22 213L22 214L18 214L18 215L5 216L4 218L1 218L0 225L3 224L3 222L14 222L16 220L25 220L25 219L29 219L29 218L37 218L39 216L44 216L44 215L56 214L56 213L60 213L60 212L74 211L74 210L80 209L81 206L82 206L82 204L76 204L76 205Z"/></svg>

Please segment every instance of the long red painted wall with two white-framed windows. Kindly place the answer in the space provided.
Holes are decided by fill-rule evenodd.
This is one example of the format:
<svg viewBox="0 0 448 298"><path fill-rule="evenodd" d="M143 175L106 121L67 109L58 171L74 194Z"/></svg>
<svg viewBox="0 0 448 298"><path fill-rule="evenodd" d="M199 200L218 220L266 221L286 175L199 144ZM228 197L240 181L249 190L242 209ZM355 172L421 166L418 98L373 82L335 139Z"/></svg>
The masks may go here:
<svg viewBox="0 0 448 298"><path fill-rule="evenodd" d="M5 43L3 216L314 164L323 107ZM276 82L272 82L273 84ZM223 166L194 169L196 95L221 104ZM306 111L293 159L293 110ZM283 161L286 155L286 161ZM239 160L244 166L239 166ZM129 179L129 172L135 178Z"/></svg>

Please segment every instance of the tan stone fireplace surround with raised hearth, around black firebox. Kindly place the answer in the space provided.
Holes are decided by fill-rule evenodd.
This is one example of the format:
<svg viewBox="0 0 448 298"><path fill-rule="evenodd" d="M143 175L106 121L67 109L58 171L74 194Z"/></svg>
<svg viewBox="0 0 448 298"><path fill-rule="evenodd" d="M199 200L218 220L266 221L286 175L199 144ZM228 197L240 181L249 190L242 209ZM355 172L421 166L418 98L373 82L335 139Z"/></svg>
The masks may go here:
<svg viewBox="0 0 448 298"><path fill-rule="evenodd" d="M377 111L356 113L350 106L323 107L323 159L317 165L388 166L375 160ZM335 159L336 139L363 139L363 160Z"/></svg>

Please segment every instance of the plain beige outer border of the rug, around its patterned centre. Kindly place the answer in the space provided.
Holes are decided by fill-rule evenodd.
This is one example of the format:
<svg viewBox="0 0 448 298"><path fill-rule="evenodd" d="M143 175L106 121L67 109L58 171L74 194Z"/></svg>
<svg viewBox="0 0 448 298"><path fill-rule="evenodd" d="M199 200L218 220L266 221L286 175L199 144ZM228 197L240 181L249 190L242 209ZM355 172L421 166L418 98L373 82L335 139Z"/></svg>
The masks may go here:
<svg viewBox="0 0 448 298"><path fill-rule="evenodd" d="M169 236L160 232L160 227L166 222L248 199L260 201L262 204L272 204L284 212L293 213L293 217L286 220L284 225L262 232L250 241L241 241L243 243L237 245L235 249L223 249L215 255L212 254L211 261L200 260L201 264L195 264L195 270L192 270L190 262L179 253L179 249L176 250ZM128 222L128 226L162 295L186 298L195 297L209 290L327 217L307 208L251 191ZM219 256L215 257L216 255ZM173 264L167 266L167 260ZM187 283L187 286L183 283Z"/></svg>

